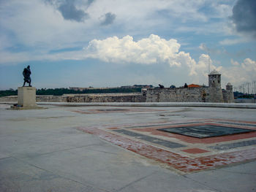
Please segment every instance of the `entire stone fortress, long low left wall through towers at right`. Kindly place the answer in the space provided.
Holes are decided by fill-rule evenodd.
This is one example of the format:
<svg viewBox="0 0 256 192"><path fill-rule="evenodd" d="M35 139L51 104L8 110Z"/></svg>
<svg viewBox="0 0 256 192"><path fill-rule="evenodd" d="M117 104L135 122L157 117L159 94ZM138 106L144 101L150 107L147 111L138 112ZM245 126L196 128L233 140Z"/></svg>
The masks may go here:
<svg viewBox="0 0 256 192"><path fill-rule="evenodd" d="M17 96L1 97L0 101L17 101ZM200 88L147 88L141 93L64 94L37 96L37 102L213 102L233 103L233 86L221 88L221 74L208 74L208 86Z"/></svg>

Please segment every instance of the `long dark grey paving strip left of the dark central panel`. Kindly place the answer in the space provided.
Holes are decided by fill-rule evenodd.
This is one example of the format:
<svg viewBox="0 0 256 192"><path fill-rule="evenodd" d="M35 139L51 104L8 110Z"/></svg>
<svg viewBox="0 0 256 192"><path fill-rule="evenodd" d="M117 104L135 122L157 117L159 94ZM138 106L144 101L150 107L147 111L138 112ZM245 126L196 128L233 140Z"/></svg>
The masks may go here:
<svg viewBox="0 0 256 192"><path fill-rule="evenodd" d="M147 142L152 142L152 143L155 143L155 144L158 144L158 145L169 147L169 148L186 147L185 145L181 145L181 144L176 143L176 142L169 142L169 141L166 141L166 140L163 140L163 139L158 139L158 138L155 138L155 137L149 137L149 136L146 136L146 135L143 135L143 134L138 134L138 133L135 133L135 132L132 132L132 131L127 131L127 130L122 130L122 129L113 130L113 131L116 131L120 134L126 134L130 137L135 137L137 139L142 139L142 140L145 140Z"/></svg>

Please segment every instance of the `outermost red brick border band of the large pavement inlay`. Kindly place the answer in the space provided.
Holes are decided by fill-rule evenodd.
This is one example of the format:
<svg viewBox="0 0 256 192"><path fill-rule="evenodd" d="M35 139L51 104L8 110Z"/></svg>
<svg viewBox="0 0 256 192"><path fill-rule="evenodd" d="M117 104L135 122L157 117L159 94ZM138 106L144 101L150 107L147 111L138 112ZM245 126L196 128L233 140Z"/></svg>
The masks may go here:
<svg viewBox="0 0 256 192"><path fill-rule="evenodd" d="M215 166L238 163L256 158L256 148L230 153L220 153L218 155L208 155L200 158L189 158L184 155L147 145L143 142L112 134L99 128L79 127L78 129L89 134L95 134L101 139L105 139L108 142L123 147L124 149L131 150L147 158L168 164L181 172L195 172L213 168Z"/></svg>

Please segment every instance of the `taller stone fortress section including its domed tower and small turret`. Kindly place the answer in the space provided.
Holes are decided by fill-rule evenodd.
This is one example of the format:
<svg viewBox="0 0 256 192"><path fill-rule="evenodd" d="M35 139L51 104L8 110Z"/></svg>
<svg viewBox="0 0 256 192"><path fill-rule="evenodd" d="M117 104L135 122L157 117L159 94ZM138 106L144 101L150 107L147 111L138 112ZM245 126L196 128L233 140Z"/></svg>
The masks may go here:
<svg viewBox="0 0 256 192"><path fill-rule="evenodd" d="M149 88L146 102L212 102L233 103L233 86L227 84L222 91L221 74L216 70L208 74L208 86L200 88Z"/></svg>

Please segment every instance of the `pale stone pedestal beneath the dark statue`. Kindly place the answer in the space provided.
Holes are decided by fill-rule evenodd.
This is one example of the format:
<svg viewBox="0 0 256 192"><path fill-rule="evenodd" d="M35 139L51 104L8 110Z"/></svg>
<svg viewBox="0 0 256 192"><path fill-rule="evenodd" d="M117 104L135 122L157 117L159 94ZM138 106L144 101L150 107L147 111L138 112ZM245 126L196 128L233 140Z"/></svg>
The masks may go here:
<svg viewBox="0 0 256 192"><path fill-rule="evenodd" d="M36 88L33 88L33 87L18 88L18 106L23 108L37 107Z"/></svg>

